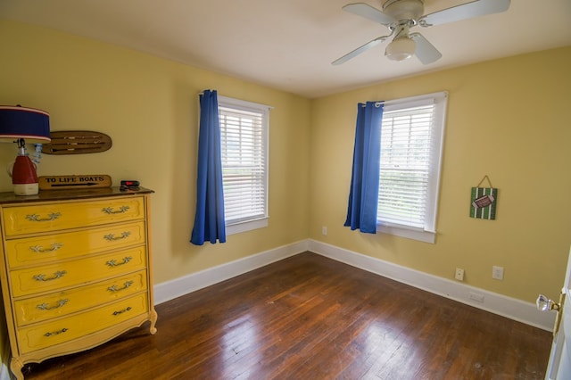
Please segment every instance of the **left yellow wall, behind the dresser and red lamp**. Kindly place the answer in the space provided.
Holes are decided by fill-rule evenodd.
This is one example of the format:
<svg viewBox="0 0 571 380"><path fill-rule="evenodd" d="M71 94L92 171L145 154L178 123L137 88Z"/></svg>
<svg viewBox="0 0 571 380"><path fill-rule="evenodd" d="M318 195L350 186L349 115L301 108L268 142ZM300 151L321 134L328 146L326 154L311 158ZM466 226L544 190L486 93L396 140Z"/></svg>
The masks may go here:
<svg viewBox="0 0 571 380"><path fill-rule="evenodd" d="M105 153L44 155L38 175L138 179L152 197L155 284L308 236L310 100L135 51L0 21L0 103L50 112L53 130L112 136ZM230 57L228 57L230 59ZM269 227L188 243L194 222L198 94L204 89L274 107L269 131ZM0 165L15 146L0 146ZM12 191L0 170L0 191Z"/></svg>

